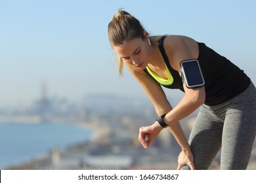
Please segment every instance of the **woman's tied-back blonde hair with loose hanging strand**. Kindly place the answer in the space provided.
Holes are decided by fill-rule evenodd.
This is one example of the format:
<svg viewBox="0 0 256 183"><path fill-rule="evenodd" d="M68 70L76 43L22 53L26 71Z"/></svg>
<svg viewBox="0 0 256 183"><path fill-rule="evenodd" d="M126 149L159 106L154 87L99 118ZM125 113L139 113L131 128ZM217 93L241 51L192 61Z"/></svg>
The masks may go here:
<svg viewBox="0 0 256 183"><path fill-rule="evenodd" d="M137 18L131 16L125 10L119 9L108 24L108 39L111 46L122 45L134 38L146 39L144 28ZM152 44L158 42L159 38L159 36L148 37ZM119 75L123 76L123 59L118 57L117 63Z"/></svg>

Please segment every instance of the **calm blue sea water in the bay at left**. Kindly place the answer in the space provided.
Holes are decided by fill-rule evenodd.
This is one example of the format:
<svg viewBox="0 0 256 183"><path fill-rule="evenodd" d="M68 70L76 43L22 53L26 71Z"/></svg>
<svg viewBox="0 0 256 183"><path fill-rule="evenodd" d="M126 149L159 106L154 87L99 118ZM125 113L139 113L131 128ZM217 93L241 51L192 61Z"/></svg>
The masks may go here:
<svg viewBox="0 0 256 183"><path fill-rule="evenodd" d="M0 122L0 169L24 163L80 142L89 141L93 131L68 123Z"/></svg>

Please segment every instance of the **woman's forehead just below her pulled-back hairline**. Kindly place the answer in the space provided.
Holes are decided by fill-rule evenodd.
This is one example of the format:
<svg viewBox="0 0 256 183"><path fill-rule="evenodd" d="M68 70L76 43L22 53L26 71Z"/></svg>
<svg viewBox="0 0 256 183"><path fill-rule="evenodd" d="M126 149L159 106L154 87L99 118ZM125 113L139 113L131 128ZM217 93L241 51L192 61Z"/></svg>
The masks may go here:
<svg viewBox="0 0 256 183"><path fill-rule="evenodd" d="M130 56L142 44L142 39L135 38L121 45L112 46L116 54L120 57Z"/></svg>

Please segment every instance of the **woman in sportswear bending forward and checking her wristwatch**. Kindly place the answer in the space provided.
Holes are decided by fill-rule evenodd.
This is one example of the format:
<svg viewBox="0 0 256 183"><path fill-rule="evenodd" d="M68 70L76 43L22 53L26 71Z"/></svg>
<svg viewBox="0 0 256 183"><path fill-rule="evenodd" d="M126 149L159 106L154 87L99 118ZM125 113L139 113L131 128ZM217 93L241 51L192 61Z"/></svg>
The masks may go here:
<svg viewBox="0 0 256 183"><path fill-rule="evenodd" d="M244 71L189 37L150 37L124 10L108 24L108 37L119 57L120 75L124 63L159 116L139 129L144 148L169 127L182 149L177 169L208 169L220 148L221 169L247 168L256 134L256 89ZM186 63L195 67L185 67ZM171 107L161 86L185 93L176 107ZM179 120L198 107L186 141Z"/></svg>

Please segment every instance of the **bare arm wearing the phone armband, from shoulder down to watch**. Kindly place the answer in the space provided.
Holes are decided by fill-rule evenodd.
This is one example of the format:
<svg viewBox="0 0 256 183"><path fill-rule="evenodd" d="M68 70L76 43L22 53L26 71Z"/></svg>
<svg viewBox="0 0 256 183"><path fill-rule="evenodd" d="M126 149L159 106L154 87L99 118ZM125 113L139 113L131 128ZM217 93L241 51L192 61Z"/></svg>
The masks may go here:
<svg viewBox="0 0 256 183"><path fill-rule="evenodd" d="M197 59L199 55L198 44L189 37L171 36L165 41L165 50L171 66L181 75L180 63L186 59ZM200 107L205 101L205 88L187 88L183 84L185 95L179 104L169 111L165 116L165 122L168 125L173 125L177 121L192 114L194 110Z"/></svg>

